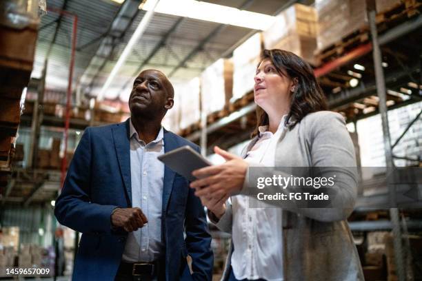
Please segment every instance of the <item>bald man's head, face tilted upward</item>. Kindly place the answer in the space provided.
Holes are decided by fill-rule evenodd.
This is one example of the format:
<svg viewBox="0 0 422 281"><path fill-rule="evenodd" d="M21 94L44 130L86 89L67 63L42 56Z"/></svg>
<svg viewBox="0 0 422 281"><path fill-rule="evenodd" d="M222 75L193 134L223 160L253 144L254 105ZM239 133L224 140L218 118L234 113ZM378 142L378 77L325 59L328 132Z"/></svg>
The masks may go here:
<svg viewBox="0 0 422 281"><path fill-rule="evenodd" d="M137 76L129 96L130 112L139 114L163 114L173 105L168 96L170 81L158 70L144 70ZM171 86L170 86L171 87Z"/></svg>

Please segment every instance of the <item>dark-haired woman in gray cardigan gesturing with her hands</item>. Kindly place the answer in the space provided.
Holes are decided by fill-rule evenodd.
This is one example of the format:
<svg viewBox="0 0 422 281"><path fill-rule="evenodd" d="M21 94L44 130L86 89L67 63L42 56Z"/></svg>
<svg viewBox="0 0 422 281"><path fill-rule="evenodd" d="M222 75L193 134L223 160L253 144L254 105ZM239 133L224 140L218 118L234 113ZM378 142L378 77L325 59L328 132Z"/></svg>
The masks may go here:
<svg viewBox="0 0 422 281"><path fill-rule="evenodd" d="M201 179L191 183L210 220L232 233L223 280L363 280L346 222L356 199L356 169L335 168L356 167L343 117L324 111L312 68L292 52L264 50L254 80L257 127L243 158L215 147L227 161L194 171ZM336 205L299 208L274 200L270 204L281 208L253 207L257 198L248 189L257 185L250 167L268 167L260 170L265 177L290 176L277 167L321 167L322 176L335 171Z"/></svg>

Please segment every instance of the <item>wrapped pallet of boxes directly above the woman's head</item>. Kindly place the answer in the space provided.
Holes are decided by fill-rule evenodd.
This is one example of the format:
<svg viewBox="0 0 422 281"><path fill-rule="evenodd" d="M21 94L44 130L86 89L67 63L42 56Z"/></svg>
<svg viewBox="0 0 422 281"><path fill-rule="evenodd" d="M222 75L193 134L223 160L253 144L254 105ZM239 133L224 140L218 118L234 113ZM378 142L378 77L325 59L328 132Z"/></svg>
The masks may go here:
<svg viewBox="0 0 422 281"><path fill-rule="evenodd" d="M312 65L316 50L316 10L294 4L277 15L274 24L263 32L265 49L282 49L294 52Z"/></svg>

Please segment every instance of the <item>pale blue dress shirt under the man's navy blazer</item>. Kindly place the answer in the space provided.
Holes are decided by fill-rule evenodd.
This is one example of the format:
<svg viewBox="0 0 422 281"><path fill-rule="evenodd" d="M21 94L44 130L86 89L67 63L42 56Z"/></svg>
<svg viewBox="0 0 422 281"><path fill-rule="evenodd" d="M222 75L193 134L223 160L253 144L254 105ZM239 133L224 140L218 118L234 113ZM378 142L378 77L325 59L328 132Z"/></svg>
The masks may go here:
<svg viewBox="0 0 422 281"><path fill-rule="evenodd" d="M148 224L130 232L122 259L125 262L153 262L163 254L161 210L163 207L164 165L157 156L164 154L164 133L145 144L130 121L130 182L132 207L139 207Z"/></svg>

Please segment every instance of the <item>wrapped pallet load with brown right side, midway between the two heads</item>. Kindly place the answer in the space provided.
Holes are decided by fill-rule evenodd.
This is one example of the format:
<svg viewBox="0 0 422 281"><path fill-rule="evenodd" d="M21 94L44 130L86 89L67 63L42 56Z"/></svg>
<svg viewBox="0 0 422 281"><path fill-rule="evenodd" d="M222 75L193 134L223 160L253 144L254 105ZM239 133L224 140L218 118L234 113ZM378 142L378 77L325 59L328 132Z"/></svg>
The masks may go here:
<svg viewBox="0 0 422 281"><path fill-rule="evenodd" d="M233 63L219 59L201 74L201 108L205 114L223 110L232 98Z"/></svg>

